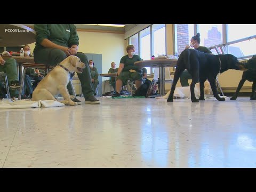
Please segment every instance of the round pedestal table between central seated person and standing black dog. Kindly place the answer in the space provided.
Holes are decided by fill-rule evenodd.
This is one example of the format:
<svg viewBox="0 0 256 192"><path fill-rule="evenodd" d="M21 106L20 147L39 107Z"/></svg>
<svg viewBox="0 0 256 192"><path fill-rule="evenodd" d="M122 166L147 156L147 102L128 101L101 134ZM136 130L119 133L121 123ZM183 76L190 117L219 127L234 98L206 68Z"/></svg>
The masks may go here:
<svg viewBox="0 0 256 192"><path fill-rule="evenodd" d="M161 95L164 95L165 86L165 67L175 67L177 65L178 59L151 59L136 61L134 65L143 67L158 67L159 68L159 92Z"/></svg>

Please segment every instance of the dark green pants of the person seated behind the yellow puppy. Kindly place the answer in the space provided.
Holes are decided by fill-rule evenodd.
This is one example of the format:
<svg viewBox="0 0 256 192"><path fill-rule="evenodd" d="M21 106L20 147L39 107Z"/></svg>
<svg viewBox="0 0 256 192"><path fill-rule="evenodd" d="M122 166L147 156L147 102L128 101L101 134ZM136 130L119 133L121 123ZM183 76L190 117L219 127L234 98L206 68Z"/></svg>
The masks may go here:
<svg viewBox="0 0 256 192"><path fill-rule="evenodd" d="M84 53L77 52L76 56L81 59L83 63L85 63L85 68L83 69L83 73L77 74L81 86L82 86L82 92L84 94L84 98L88 98L91 95L93 95L93 84L92 84L92 78L90 73L90 67L88 64L88 59ZM34 60L36 63L43 63L47 64L48 66L56 66L58 63L63 61L67 58L67 55L65 52L63 52L60 49L52 49L52 48L45 48L41 50L35 50L34 52ZM71 85L70 82L67 86L67 89L69 91L69 94L72 94L71 91Z"/></svg>

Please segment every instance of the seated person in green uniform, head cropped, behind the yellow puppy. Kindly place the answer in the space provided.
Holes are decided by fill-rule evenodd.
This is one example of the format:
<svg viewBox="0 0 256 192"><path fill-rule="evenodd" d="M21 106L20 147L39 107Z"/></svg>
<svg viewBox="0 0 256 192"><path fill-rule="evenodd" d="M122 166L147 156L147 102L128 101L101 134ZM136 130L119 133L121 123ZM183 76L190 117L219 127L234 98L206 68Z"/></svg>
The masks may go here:
<svg viewBox="0 0 256 192"><path fill-rule="evenodd" d="M88 59L84 53L78 52L79 37L76 26L74 24L34 24L34 30L36 31L35 62L56 66L69 55L76 55L86 66L83 73L77 74L85 103L99 104L100 101L94 97ZM67 89L70 95L74 94L71 91L70 82ZM73 101L79 102L76 98Z"/></svg>

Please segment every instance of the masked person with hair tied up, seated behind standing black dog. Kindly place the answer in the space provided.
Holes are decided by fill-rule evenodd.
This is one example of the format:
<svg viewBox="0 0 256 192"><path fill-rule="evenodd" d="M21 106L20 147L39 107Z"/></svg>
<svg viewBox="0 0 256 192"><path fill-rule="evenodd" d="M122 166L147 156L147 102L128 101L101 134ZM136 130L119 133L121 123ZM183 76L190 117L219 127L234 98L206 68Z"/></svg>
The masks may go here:
<svg viewBox="0 0 256 192"><path fill-rule="evenodd" d="M205 46L200 46L200 34L197 33L195 36L193 36L191 39L190 39L190 45L187 45L185 47L185 49L189 49L190 47L193 48L195 50L198 50L198 51L201 51L201 52L204 52L204 53L210 53L212 54L212 52ZM189 86L189 83L188 83L188 79L192 79L192 76L188 73L187 69L185 69L181 76L180 76L180 84L181 86ZM199 82L199 79L198 79L198 82Z"/></svg>

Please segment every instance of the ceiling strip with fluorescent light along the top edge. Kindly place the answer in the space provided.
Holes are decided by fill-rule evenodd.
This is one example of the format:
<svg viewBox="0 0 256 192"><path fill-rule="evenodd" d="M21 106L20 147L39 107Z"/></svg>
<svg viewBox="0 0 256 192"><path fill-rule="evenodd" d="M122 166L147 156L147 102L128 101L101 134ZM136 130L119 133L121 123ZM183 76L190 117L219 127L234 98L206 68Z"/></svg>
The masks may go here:
<svg viewBox="0 0 256 192"><path fill-rule="evenodd" d="M34 24L23 24L28 27L33 27ZM119 33L125 33L126 31L132 29L133 27L137 26L138 24L121 24L125 25L124 27L109 27L109 26L94 26L94 25L83 25L83 24L75 24L77 29L84 29L84 30L106 30L106 31L116 31Z"/></svg>

